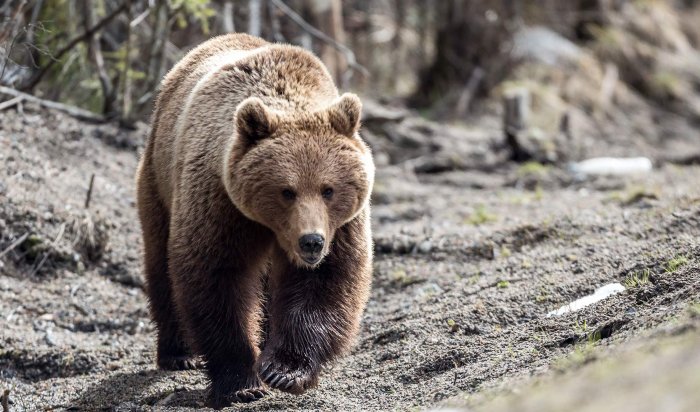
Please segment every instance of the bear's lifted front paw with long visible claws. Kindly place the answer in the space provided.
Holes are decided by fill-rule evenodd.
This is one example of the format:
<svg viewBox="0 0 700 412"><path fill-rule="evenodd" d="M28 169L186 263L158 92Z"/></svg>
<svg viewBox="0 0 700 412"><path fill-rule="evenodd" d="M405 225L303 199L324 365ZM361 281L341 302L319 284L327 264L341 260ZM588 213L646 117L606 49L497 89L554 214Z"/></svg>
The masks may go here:
<svg viewBox="0 0 700 412"><path fill-rule="evenodd" d="M297 364L298 362L293 362ZM317 373L309 366L294 367L290 363L280 361L274 356L263 360L260 364L260 379L270 388L283 392L300 395L307 389L316 386Z"/></svg>

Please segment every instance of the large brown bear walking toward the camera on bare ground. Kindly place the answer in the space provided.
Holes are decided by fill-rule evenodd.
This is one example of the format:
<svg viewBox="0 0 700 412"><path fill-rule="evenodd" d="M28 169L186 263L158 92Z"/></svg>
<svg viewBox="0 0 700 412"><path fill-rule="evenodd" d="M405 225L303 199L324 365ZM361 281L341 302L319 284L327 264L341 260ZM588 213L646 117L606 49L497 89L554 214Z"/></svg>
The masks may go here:
<svg viewBox="0 0 700 412"><path fill-rule="evenodd" d="M313 54L244 34L162 82L137 173L157 363L201 355L214 406L300 394L354 340L372 274L360 111Z"/></svg>

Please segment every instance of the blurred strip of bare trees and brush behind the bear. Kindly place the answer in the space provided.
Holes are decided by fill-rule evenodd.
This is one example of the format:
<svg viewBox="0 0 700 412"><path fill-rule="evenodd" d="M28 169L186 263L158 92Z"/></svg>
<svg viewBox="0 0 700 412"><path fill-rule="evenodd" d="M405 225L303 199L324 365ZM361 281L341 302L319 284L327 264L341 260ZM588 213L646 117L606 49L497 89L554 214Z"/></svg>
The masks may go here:
<svg viewBox="0 0 700 412"><path fill-rule="evenodd" d="M700 116L697 0L9 0L0 18L2 85L125 124L188 50L233 31L314 50L343 88L429 117L513 82L558 115L630 100L621 83Z"/></svg>

